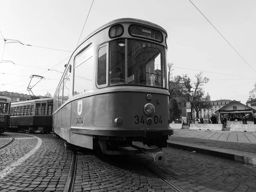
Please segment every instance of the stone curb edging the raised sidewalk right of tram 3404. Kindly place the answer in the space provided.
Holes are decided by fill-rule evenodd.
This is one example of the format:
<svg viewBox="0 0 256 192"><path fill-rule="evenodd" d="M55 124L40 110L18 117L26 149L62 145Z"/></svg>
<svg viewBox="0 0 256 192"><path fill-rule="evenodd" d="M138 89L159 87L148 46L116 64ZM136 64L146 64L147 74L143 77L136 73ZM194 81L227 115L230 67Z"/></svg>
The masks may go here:
<svg viewBox="0 0 256 192"><path fill-rule="evenodd" d="M193 143L184 143L178 141L167 140L168 146L179 148L186 151L196 151L201 154L208 154L217 157L223 157L248 165L256 166L256 154L232 149L218 148L206 145L198 145Z"/></svg>

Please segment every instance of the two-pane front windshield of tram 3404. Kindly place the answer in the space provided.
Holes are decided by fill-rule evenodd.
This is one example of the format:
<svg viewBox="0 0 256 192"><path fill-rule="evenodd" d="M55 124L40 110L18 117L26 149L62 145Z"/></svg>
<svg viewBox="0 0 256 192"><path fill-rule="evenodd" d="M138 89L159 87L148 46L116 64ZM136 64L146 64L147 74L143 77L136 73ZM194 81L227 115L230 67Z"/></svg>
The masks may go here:
<svg viewBox="0 0 256 192"><path fill-rule="evenodd" d="M109 84L125 84L125 39L109 44ZM164 48L158 44L127 40L127 84L165 87Z"/></svg>

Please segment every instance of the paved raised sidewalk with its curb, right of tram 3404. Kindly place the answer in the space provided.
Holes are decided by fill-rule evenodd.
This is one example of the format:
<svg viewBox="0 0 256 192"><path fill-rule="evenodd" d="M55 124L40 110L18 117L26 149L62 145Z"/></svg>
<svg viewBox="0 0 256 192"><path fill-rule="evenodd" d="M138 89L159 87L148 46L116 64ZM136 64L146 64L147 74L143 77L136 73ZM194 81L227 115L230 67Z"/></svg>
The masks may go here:
<svg viewBox="0 0 256 192"><path fill-rule="evenodd" d="M174 129L173 148L229 158L256 166L256 132Z"/></svg>

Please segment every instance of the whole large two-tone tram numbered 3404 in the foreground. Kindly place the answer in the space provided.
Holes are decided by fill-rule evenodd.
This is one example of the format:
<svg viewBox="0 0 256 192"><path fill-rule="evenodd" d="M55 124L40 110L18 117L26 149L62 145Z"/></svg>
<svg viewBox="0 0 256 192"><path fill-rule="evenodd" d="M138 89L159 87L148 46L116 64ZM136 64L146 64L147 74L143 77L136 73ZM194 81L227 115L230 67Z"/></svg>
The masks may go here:
<svg viewBox="0 0 256 192"><path fill-rule="evenodd" d="M113 20L76 48L54 94L53 131L104 154L160 151L169 135L167 32L144 20ZM138 148L142 142L152 150ZM134 148L124 151L124 147ZM159 157L159 159L161 159Z"/></svg>

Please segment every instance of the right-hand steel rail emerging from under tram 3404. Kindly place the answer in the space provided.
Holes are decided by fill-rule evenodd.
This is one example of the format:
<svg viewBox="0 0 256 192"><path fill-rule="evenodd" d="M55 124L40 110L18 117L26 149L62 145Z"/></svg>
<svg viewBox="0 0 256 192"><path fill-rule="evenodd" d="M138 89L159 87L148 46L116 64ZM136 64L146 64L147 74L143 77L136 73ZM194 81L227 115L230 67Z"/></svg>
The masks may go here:
<svg viewBox="0 0 256 192"><path fill-rule="evenodd" d="M139 158L135 157L134 155L130 155L130 157L133 160L135 160L136 162L138 162L138 163L142 164L143 166L145 166L149 170L149 172L151 172L152 174L154 174L155 176L157 176L158 178L163 180L163 182L166 183L166 185L169 186L171 189L175 190L175 192L187 192L185 189L182 189L180 186L178 186L175 183L167 180L165 177L163 177L162 175L160 175L157 172L155 172L149 166L145 165L145 163L143 163L143 161L141 161Z"/></svg>

